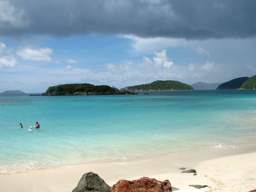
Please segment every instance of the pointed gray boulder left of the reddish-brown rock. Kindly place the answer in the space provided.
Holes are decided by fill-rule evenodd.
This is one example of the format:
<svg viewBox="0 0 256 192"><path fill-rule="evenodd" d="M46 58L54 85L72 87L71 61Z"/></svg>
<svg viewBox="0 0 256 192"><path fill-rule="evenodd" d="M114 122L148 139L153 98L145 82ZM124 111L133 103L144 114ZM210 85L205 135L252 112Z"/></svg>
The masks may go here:
<svg viewBox="0 0 256 192"><path fill-rule="evenodd" d="M99 175L85 173L72 192L110 192L111 187Z"/></svg>

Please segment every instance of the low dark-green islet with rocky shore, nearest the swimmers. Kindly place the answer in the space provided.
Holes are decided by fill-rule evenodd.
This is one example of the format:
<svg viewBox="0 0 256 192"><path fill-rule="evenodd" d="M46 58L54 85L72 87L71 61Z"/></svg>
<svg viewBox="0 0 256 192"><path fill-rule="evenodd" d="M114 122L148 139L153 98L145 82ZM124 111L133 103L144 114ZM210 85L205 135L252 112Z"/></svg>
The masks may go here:
<svg viewBox="0 0 256 192"><path fill-rule="evenodd" d="M42 96L67 96L67 95L124 95L135 94L127 90L118 90L108 85L95 86L93 84L60 84L49 87Z"/></svg>

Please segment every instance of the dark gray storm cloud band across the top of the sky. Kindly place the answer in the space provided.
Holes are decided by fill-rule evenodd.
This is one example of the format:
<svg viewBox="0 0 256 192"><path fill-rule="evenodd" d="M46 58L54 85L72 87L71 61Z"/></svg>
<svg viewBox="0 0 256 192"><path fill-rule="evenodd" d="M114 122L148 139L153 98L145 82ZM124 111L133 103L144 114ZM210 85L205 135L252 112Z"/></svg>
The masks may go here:
<svg viewBox="0 0 256 192"><path fill-rule="evenodd" d="M0 35L256 36L255 0L0 0Z"/></svg>

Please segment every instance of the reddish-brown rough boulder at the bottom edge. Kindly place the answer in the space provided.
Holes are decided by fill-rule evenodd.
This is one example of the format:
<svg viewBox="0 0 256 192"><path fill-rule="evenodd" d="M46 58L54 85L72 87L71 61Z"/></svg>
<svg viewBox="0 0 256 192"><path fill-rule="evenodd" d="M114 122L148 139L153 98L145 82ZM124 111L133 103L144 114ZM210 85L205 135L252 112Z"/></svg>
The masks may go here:
<svg viewBox="0 0 256 192"><path fill-rule="evenodd" d="M121 179L112 186L111 192L172 192L172 186L169 180L141 177L132 181Z"/></svg>

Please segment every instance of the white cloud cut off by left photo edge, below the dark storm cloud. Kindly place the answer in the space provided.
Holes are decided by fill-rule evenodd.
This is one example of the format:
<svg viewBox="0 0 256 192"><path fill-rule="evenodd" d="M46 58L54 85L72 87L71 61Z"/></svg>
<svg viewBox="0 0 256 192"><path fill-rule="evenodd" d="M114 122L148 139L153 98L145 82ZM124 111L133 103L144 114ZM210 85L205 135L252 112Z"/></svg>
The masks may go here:
<svg viewBox="0 0 256 192"><path fill-rule="evenodd" d="M12 53L6 49L6 45L0 42L0 68L15 67L18 64Z"/></svg>

